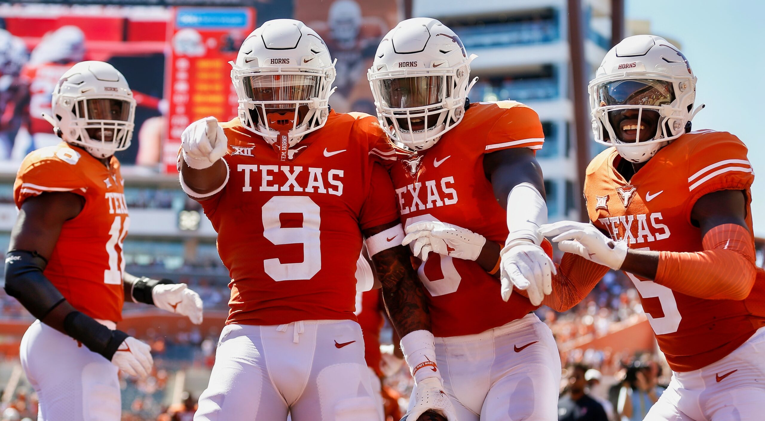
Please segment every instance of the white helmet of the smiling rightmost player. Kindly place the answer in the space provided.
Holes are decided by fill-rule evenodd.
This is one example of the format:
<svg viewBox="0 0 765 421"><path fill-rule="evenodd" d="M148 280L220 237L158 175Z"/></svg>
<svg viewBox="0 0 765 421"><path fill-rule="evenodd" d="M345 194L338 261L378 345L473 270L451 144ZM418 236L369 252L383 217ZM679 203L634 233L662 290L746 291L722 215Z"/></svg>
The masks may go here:
<svg viewBox="0 0 765 421"><path fill-rule="evenodd" d="M684 134L703 108L692 112L696 77L688 60L656 35L611 48L588 89L595 142L613 145L630 162L647 161Z"/></svg>

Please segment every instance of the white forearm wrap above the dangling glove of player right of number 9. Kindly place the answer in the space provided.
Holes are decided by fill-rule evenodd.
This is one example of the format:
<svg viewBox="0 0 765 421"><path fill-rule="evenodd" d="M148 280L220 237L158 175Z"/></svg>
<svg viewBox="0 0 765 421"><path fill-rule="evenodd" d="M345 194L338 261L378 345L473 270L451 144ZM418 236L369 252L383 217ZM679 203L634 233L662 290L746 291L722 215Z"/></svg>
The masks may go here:
<svg viewBox="0 0 765 421"><path fill-rule="evenodd" d="M542 194L531 183L520 183L507 195L507 229L505 245L518 240L542 244L539 227L547 224L547 204Z"/></svg>

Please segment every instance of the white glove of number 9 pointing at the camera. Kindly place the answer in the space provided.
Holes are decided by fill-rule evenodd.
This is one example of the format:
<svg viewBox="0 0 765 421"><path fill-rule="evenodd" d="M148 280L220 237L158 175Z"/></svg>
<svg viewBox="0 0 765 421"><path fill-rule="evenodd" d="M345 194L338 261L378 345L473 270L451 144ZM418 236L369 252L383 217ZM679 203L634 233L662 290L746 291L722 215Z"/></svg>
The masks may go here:
<svg viewBox="0 0 765 421"><path fill-rule="evenodd" d="M210 167L228 150L228 139L215 117L192 122L181 133L184 161L194 169Z"/></svg>

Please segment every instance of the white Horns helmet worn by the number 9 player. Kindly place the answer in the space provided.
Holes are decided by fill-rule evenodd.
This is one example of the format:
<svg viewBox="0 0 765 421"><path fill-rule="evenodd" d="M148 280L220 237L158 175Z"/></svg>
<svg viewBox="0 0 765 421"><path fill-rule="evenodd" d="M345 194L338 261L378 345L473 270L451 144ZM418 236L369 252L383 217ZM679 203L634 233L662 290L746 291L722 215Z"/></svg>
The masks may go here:
<svg viewBox="0 0 765 421"><path fill-rule="evenodd" d="M334 62L324 40L303 22L265 22L229 63L239 119L266 142L274 145L282 135L291 147L327 122Z"/></svg>

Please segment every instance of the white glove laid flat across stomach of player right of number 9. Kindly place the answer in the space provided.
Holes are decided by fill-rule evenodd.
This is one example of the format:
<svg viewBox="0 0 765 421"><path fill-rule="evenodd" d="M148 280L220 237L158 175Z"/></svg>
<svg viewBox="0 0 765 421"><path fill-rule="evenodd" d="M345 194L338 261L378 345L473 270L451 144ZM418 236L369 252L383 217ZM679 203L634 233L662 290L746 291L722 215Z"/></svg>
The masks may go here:
<svg viewBox="0 0 765 421"><path fill-rule="evenodd" d="M401 243L404 246L411 243L412 254L423 262L431 250L456 259L475 260L486 244L486 238L457 225L422 220L406 227L406 237Z"/></svg>

